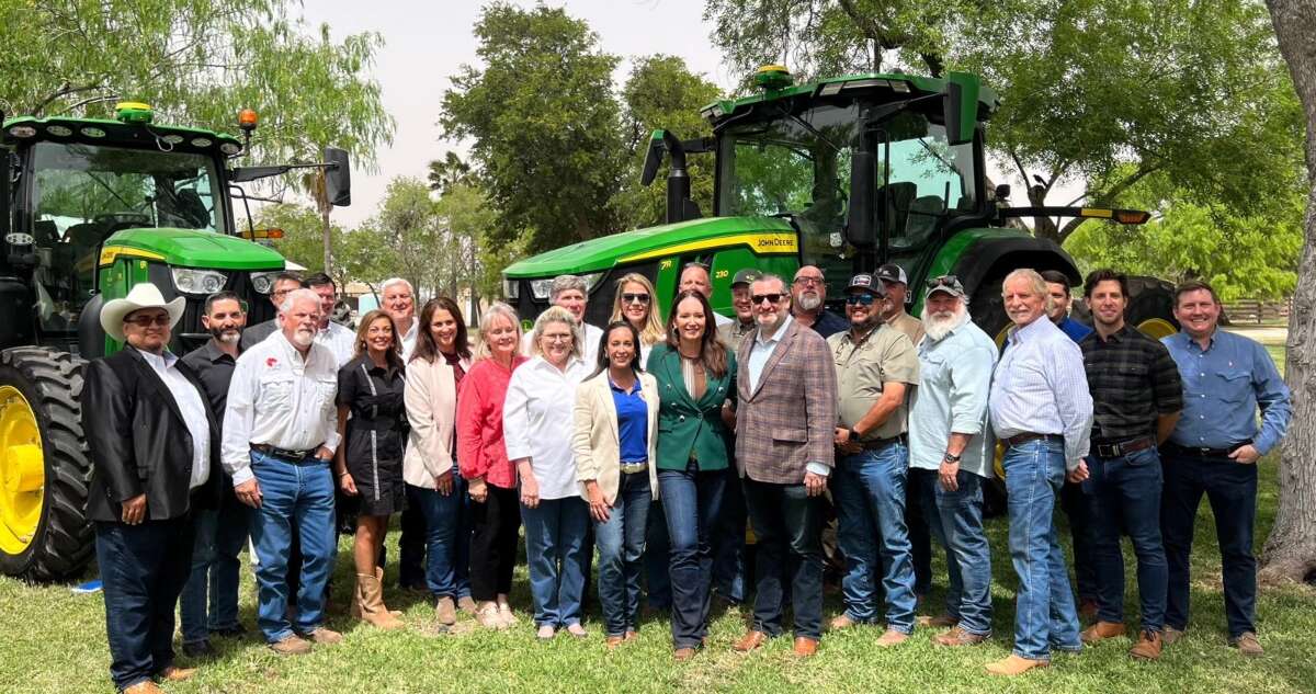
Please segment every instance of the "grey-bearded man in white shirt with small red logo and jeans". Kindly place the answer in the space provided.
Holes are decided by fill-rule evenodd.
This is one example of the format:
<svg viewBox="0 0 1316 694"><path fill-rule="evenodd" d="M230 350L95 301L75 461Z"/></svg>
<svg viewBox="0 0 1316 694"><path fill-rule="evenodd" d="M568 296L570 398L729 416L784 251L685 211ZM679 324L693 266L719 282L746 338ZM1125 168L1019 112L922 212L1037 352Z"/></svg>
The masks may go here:
<svg viewBox="0 0 1316 694"><path fill-rule="evenodd" d="M224 415L224 468L238 501L257 509L251 540L258 623L280 655L311 651L342 636L322 626L334 557L334 480L340 443L338 364L318 342L321 297L299 289L279 308L280 331L238 358ZM296 619L287 615L291 523L301 540Z"/></svg>

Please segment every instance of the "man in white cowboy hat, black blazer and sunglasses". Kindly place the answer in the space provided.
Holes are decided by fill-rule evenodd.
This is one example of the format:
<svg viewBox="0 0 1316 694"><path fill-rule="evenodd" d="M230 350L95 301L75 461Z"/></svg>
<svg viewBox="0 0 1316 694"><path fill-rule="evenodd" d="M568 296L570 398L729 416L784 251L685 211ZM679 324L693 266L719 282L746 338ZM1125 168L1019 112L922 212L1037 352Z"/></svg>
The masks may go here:
<svg viewBox="0 0 1316 694"><path fill-rule="evenodd" d="M92 456L87 518L105 594L109 673L134 694L154 678L187 680L174 665L174 606L192 565L192 515L217 499L218 425L196 375L168 351L183 315L138 284L100 312L124 343L84 369L83 430Z"/></svg>

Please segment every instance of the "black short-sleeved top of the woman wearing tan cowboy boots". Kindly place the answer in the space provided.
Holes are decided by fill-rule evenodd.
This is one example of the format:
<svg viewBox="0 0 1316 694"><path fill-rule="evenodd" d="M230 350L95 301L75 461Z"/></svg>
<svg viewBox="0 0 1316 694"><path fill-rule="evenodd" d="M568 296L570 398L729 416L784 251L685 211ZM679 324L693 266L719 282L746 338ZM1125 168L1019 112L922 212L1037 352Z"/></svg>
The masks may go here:
<svg viewBox="0 0 1316 694"><path fill-rule="evenodd" d="M338 405L351 411L347 419L347 464L401 465L409 425L401 368L380 368L361 355L338 371Z"/></svg>

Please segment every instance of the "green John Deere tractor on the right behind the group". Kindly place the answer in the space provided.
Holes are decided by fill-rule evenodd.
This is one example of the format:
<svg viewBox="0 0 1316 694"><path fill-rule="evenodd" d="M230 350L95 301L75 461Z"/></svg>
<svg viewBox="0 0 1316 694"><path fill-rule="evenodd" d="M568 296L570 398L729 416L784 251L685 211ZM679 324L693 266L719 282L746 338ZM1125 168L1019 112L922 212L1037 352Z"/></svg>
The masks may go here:
<svg viewBox="0 0 1316 694"><path fill-rule="evenodd" d="M1071 216L1142 223L1137 210L1005 208L1008 185L987 189L984 125L998 96L973 75L930 79L865 74L794 84L780 66L758 71L759 92L709 104L713 137L680 141L655 130L645 163L649 184L663 158L667 223L597 238L521 260L504 271L504 293L522 318L547 306L549 284L582 275L591 294L587 319L605 325L613 281L628 272L675 294L680 268L707 264L713 309L732 315L730 281L744 267L790 281L804 264L821 268L838 310L850 276L896 263L909 277L908 310L917 315L929 277L954 273L970 296L974 321L1004 338L1000 284L1021 267L1058 269L1079 281L1058 244L1009 227L1007 220ZM711 218L690 198L686 155L713 152ZM1144 331L1175 330L1167 283L1132 283L1129 318ZM666 301L659 302L666 313Z"/></svg>

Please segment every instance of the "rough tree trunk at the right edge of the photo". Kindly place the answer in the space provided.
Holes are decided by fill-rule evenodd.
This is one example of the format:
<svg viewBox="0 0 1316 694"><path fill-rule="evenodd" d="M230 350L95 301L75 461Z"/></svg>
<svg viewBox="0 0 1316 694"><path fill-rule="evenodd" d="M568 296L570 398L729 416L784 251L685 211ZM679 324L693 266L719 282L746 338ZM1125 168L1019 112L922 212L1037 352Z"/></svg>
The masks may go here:
<svg viewBox="0 0 1316 694"><path fill-rule="evenodd" d="M1279 510L1261 556L1267 581L1316 574L1316 0L1266 0L1307 116L1307 197L1298 289L1288 317L1287 380L1294 417L1280 446Z"/></svg>

